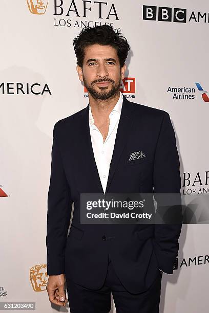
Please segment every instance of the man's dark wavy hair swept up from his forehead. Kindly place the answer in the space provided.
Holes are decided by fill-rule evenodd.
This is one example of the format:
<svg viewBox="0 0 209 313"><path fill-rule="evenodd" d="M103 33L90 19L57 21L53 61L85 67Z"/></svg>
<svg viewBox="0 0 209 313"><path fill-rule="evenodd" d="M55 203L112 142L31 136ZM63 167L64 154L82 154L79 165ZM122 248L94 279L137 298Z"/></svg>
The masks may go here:
<svg viewBox="0 0 209 313"><path fill-rule="evenodd" d="M115 48L120 67L122 67L126 61L130 46L127 39L120 34L119 28L114 30L110 25L84 27L79 35L73 39L77 65L82 68L85 48L92 46L92 44L101 44L101 46L111 46Z"/></svg>

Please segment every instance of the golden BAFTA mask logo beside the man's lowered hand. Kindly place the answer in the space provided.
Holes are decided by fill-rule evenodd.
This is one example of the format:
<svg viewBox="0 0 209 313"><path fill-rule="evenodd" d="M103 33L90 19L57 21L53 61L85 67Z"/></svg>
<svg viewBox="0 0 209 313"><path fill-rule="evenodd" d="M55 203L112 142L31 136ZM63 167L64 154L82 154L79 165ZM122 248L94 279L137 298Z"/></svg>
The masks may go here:
<svg viewBox="0 0 209 313"><path fill-rule="evenodd" d="M34 291L46 290L48 281L47 264L32 266L30 269L30 281Z"/></svg>

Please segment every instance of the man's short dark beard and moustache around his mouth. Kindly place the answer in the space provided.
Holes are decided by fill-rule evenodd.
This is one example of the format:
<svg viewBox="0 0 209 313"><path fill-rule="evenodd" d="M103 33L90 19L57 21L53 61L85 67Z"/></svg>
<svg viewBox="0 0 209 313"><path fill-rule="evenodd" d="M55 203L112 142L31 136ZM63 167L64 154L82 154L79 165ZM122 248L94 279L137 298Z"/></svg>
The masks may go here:
<svg viewBox="0 0 209 313"><path fill-rule="evenodd" d="M109 86L98 86L99 90L95 90L94 89L94 84L98 83L98 82L104 82L104 81L108 81L111 83L111 88L109 89ZM118 91L120 88L120 81L121 81L121 73L120 73L120 79L119 81L115 84L115 81L112 79L108 79L108 78L104 78L104 79L97 79L91 82L90 85L88 85L85 77L83 76L83 83L85 85L85 87L87 88L88 92L90 93L90 95L92 96L92 98L94 98L95 100L108 100L110 98L114 98L117 97L118 95Z"/></svg>

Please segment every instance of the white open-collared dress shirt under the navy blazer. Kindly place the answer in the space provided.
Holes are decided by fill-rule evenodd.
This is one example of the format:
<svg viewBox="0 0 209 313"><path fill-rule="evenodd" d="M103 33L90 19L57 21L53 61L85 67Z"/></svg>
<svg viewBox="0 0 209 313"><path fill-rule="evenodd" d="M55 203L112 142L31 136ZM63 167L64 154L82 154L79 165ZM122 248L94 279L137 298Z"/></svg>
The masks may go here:
<svg viewBox="0 0 209 313"><path fill-rule="evenodd" d="M103 137L101 132L94 124L94 118L92 116L91 106L89 105L89 128L90 128L90 135L91 135L91 142L92 148L94 152L94 159L96 162L96 166L98 169L101 185L103 188L103 192L106 191L106 186L108 182L108 175L110 169L110 162L113 155L113 149L115 145L115 138L118 128L118 123L121 114L122 108L122 101L123 96L120 92L120 98L118 99L117 103L115 104L113 110L111 111L109 118L110 118L110 125L108 129L108 136L103 142Z"/></svg>

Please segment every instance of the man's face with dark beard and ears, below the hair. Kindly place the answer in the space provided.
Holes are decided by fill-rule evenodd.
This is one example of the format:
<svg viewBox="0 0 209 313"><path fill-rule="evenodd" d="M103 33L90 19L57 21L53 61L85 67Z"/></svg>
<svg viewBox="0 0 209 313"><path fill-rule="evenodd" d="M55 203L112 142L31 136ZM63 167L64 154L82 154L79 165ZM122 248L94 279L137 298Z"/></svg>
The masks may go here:
<svg viewBox="0 0 209 313"><path fill-rule="evenodd" d="M107 100L118 95L126 65L120 68L117 51L113 47L93 44L85 49L83 66L77 65L76 70L92 98Z"/></svg>

